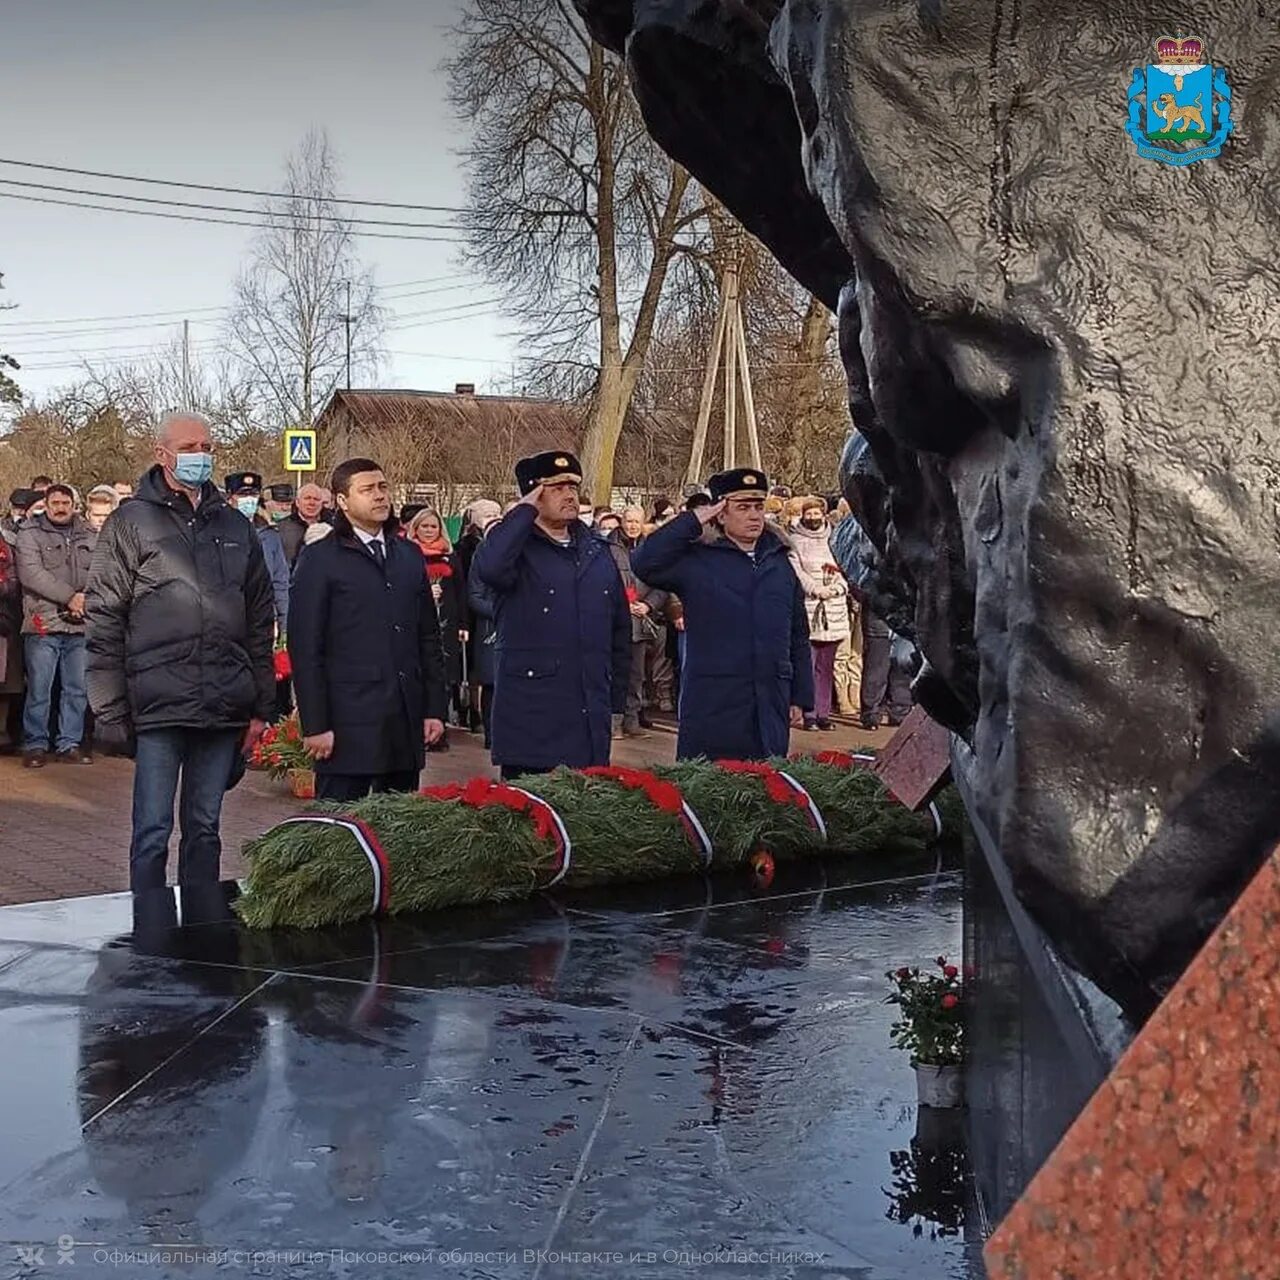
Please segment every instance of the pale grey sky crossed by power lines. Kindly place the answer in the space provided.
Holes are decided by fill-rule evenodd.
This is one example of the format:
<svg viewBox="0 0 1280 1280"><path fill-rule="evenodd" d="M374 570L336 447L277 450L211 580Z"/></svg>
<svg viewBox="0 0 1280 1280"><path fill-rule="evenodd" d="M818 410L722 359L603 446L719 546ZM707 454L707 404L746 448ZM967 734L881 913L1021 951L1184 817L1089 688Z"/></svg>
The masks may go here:
<svg viewBox="0 0 1280 1280"><path fill-rule="evenodd" d="M463 174L454 150L465 134L445 104L440 70L457 4L3 0L0 157L271 191L279 188L285 155L308 128L323 125L338 154L344 195L457 206ZM113 187L3 164L0 178ZM253 204L172 188L114 189ZM22 191L0 183L0 192ZM19 311L0 314L0 348L22 360L20 384L37 396L74 378L81 355L124 360L172 340L186 311L197 353L210 349L218 340L211 308L229 301L252 236L239 227L0 198L0 301L20 303ZM462 274L456 244L371 238L358 244L364 264L390 294L419 293L388 301L393 316L497 297L493 287ZM93 325L49 324L137 312L174 314L95 320L104 330L95 333L79 333ZM154 326L124 328L143 323ZM511 375L512 323L498 305L479 306L466 319L416 316L393 319L392 326L383 385L452 389L474 381L484 389Z"/></svg>

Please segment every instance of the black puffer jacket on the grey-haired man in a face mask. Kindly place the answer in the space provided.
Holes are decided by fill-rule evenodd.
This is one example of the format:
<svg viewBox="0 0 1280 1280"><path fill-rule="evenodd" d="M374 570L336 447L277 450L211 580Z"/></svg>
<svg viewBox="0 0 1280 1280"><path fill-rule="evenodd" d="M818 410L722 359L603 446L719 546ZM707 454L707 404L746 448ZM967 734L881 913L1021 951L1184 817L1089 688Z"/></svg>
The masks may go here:
<svg viewBox="0 0 1280 1280"><path fill-rule="evenodd" d="M271 719L271 577L252 527L211 484L192 511L152 467L102 527L84 602L88 698L102 723Z"/></svg>

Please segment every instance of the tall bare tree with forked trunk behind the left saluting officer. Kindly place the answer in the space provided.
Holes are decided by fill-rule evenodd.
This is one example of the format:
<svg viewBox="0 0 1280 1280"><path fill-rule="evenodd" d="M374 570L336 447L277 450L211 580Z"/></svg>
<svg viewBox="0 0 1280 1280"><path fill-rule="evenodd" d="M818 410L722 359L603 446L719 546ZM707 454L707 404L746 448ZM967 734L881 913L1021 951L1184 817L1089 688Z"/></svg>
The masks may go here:
<svg viewBox="0 0 1280 1280"><path fill-rule="evenodd" d="M590 389L586 486L607 498L699 191L644 129L626 69L567 0L468 0L448 63L471 124L472 265L508 288L562 394Z"/></svg>

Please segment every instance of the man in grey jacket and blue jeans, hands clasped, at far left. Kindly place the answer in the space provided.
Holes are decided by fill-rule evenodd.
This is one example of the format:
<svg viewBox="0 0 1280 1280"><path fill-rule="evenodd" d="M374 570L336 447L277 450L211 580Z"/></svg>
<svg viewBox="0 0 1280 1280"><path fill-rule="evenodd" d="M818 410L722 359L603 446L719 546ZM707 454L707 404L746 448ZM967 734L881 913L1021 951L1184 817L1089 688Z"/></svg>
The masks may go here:
<svg viewBox="0 0 1280 1280"><path fill-rule="evenodd" d="M27 705L22 718L23 764L49 759L49 712L55 678L61 681L55 759L88 764L84 736L84 586L97 532L76 515L76 494L63 484L45 493L45 515L18 530L23 655Z"/></svg>

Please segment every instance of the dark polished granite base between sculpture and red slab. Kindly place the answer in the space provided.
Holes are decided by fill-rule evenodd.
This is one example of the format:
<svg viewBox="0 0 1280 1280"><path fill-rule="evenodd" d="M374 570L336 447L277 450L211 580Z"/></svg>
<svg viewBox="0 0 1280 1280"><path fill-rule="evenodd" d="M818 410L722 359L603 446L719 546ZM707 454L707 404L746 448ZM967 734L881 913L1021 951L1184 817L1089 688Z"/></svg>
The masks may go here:
<svg viewBox="0 0 1280 1280"><path fill-rule="evenodd" d="M956 744L961 794L966 763ZM1112 1001L1059 957L1014 896L995 840L969 809L965 1087L978 1212L989 1233L1110 1074L1132 1029Z"/></svg>

